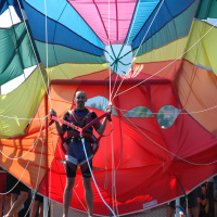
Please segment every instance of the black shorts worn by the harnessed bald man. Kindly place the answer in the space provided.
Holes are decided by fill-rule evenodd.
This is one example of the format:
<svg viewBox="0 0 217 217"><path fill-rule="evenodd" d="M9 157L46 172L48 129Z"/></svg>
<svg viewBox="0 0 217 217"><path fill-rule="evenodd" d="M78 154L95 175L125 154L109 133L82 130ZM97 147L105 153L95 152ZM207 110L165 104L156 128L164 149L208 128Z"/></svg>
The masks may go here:
<svg viewBox="0 0 217 217"><path fill-rule="evenodd" d="M92 169L92 159L90 159L89 163L90 163L90 167ZM88 164L80 166L80 169L82 173L82 177L86 177L86 178L91 177L91 173L90 173ZM77 171L77 165L66 162L66 177L67 178L76 177L76 171Z"/></svg>

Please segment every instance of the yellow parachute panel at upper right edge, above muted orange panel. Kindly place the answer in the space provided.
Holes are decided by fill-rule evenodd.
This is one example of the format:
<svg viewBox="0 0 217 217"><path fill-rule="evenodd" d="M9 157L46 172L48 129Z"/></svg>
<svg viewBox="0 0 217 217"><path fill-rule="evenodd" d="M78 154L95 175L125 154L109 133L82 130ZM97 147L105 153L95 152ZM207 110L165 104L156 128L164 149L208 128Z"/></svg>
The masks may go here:
<svg viewBox="0 0 217 217"><path fill-rule="evenodd" d="M192 47L192 48L191 48ZM184 59L195 65L210 67L217 75L217 27L195 20L193 22Z"/></svg>

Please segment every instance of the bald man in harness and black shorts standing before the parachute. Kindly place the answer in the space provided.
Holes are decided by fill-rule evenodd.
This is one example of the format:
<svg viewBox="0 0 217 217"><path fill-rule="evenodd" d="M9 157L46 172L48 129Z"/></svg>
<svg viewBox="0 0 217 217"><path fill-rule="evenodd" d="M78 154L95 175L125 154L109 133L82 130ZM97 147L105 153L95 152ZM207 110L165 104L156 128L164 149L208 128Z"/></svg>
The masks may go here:
<svg viewBox="0 0 217 217"><path fill-rule="evenodd" d="M86 92L79 90L75 94L75 103L76 108L74 111L68 111L65 113L63 119L66 122L69 122L74 125L77 125L79 127L86 126L88 123L90 123L92 119L97 118L97 114L94 112L90 112L85 107L85 103L87 102ZM106 112L111 113L112 108L107 107ZM56 113L54 111L51 111L51 115L55 115ZM99 135L103 135L105 126L106 126L107 117L104 117L102 124L100 122L97 122L93 127L97 130ZM62 125L58 122L55 122L56 130L61 136L64 136L65 132L68 135L76 133L75 129ZM88 128L86 131L86 135L92 135L92 127ZM85 136L86 137L86 136ZM85 146L86 152L89 155L91 155L91 143L90 137L85 138ZM77 170L77 163L80 165L80 169L82 171L82 182L85 187L85 199L88 206L88 216L92 217L92 210L93 210L93 191L91 187L91 173L89 169L88 164L80 164L80 162L86 161L86 155L84 152L82 143L80 141L79 136L72 136L67 137L66 140L66 186L64 190L64 196L63 196L63 217L68 216L68 208L73 196L73 187L75 183L75 177L76 177L76 170ZM73 158L73 161L71 161ZM92 159L89 159L90 166L92 166Z"/></svg>

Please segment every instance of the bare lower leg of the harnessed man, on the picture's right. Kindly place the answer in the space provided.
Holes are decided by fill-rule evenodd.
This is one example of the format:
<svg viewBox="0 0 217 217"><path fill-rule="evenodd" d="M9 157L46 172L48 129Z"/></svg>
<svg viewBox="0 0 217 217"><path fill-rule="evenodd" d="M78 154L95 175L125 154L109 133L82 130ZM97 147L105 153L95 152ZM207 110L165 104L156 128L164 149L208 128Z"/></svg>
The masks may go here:
<svg viewBox="0 0 217 217"><path fill-rule="evenodd" d="M85 187L85 200L88 206L89 217L92 216L93 212L93 191L91 186L91 177L82 177L82 182Z"/></svg>

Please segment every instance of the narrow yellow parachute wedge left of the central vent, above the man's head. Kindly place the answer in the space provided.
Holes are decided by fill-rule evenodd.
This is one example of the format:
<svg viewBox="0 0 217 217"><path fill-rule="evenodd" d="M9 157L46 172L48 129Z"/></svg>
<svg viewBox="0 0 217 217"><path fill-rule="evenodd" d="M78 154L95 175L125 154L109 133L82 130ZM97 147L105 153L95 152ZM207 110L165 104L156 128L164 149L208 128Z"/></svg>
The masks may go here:
<svg viewBox="0 0 217 217"><path fill-rule="evenodd" d="M104 71L108 67L103 64L75 64L63 63L49 68L50 79L73 79L78 76L89 75L95 72Z"/></svg>

